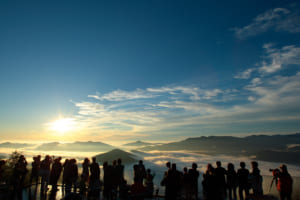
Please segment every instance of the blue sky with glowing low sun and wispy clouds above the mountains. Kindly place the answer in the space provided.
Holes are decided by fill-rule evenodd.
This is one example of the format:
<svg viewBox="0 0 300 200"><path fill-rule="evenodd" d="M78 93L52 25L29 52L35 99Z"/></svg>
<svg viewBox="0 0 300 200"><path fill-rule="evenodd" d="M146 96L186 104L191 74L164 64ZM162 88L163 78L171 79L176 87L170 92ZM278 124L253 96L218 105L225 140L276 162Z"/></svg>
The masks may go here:
<svg viewBox="0 0 300 200"><path fill-rule="evenodd" d="M300 131L300 4L0 1L1 141Z"/></svg>

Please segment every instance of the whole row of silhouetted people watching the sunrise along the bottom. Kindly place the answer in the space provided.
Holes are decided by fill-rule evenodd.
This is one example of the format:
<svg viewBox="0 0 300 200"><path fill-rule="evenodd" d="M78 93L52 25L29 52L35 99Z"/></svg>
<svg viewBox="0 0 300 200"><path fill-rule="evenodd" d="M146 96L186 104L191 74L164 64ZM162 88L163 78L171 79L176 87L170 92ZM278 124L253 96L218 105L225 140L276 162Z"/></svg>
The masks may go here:
<svg viewBox="0 0 300 200"><path fill-rule="evenodd" d="M122 160L114 160L110 165L103 163L103 181L100 181L100 166L96 158L92 162L85 158L82 163L82 172L79 176L78 164L76 159L66 159L61 162L61 157L54 158L45 156L33 157L32 169L30 174L30 185L41 181L41 194L45 194L48 185L52 185L52 191L57 191L58 180L61 178L62 189L65 192L65 199L100 199L100 191L103 198L107 200L142 200L152 198L154 193L153 179L155 174L150 169L145 168L143 161L140 160L133 166L132 185L128 185L124 179L124 165ZM0 181L3 174L4 160L0 160ZM177 170L175 163L166 163L167 170L161 180L161 186L165 187L166 200L192 200L198 199L198 178L199 171L197 164L193 163L191 168ZM251 162L251 172L246 169L244 162L240 163L240 168L236 171L232 163L228 163L227 169L222 167L220 161L216 166L207 165L203 174L202 188L203 196L206 200L225 200L237 199L259 199L263 196L262 182L258 163ZM293 180L287 171L286 165L281 165L280 169L270 170L273 173L273 182L276 182L277 190L281 200L290 200L292 194ZM24 188L25 176L28 173L27 161L23 155L19 157L13 169L13 192L11 199L17 197L21 199L22 189ZM62 177L61 177L62 174ZM271 184L271 186L272 186ZM250 194L249 191L252 191ZM158 191L156 191L156 195ZM76 195L76 196L74 196Z"/></svg>

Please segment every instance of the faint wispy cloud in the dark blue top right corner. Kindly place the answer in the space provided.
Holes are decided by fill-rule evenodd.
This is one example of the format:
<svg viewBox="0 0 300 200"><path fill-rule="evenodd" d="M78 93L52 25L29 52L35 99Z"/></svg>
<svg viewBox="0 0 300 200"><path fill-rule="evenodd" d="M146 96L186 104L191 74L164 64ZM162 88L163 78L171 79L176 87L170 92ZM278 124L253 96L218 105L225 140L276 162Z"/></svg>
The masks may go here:
<svg viewBox="0 0 300 200"><path fill-rule="evenodd" d="M290 9L274 8L259 14L250 24L241 28L233 28L232 30L237 38L245 39L269 30L299 33L299 24L299 10L294 10L293 7Z"/></svg>

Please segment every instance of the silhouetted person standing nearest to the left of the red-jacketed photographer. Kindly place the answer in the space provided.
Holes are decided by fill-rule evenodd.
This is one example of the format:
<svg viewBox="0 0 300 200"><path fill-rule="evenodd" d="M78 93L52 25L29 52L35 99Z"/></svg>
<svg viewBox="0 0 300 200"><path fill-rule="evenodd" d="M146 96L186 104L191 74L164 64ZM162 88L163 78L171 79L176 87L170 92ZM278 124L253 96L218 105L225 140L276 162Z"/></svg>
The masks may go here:
<svg viewBox="0 0 300 200"><path fill-rule="evenodd" d="M253 190L254 196L262 196L263 189L262 189L262 176L260 175L260 170L258 169L258 163L256 161L251 162L252 165L252 172L249 175L249 182L251 188Z"/></svg>

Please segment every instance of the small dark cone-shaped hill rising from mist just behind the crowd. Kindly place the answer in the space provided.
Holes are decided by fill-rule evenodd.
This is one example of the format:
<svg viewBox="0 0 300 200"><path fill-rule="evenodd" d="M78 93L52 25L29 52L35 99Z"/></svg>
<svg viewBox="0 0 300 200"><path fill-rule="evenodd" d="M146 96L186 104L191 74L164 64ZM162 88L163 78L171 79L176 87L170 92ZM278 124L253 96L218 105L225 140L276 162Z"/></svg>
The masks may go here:
<svg viewBox="0 0 300 200"><path fill-rule="evenodd" d="M101 162L101 163L105 161L112 163L113 160L117 160L119 158L122 159L122 163L124 164L137 162L137 159L133 154L123 151L121 149L113 149L109 152L96 155L97 162Z"/></svg>

